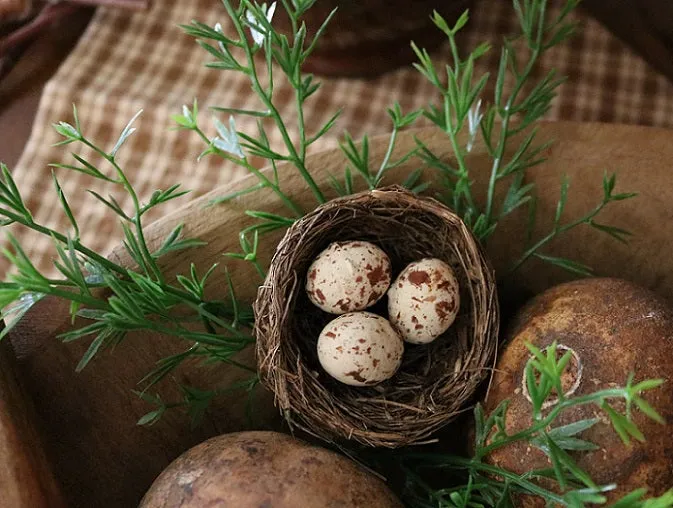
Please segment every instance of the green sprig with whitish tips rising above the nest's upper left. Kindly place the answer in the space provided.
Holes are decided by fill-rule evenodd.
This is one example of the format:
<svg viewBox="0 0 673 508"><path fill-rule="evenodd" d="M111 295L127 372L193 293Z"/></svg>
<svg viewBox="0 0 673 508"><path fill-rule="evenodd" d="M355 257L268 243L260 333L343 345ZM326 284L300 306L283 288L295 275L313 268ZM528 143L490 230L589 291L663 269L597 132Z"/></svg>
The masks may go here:
<svg viewBox="0 0 673 508"><path fill-rule="evenodd" d="M318 91L320 83L316 82L312 75L305 75L302 72L302 66L313 53L317 41L336 13L335 10L327 17L322 26L318 28L312 42L309 41L306 24L300 22L300 17L315 1L295 1L292 4L283 2L283 7L294 27L291 37L279 33L271 24L276 9L275 2L267 8L266 4L258 5L250 0L242 0L238 3L238 6L234 6L234 2L230 0L224 0L224 8L235 32L232 37L225 35L220 25L211 28L194 21L191 25L183 26L186 33L198 38L199 44L215 59L207 64L209 67L239 72L248 78L252 91L259 98L260 108L256 110L242 110L232 107L213 108L218 113L256 118L258 127L256 136L236 131L233 120L230 122L229 129L217 120L218 131L224 136L209 139L196 124L195 111L192 114L186 111L183 116L176 117L176 121L182 127L197 132L208 144L208 148L202 155L219 155L247 169L259 180L259 188L272 189L295 216L301 216L302 210L282 190L282 182L278 180L276 165L278 162L291 163L302 176L316 202L318 204L324 203L326 201L325 196L307 167L306 156L309 147L334 127L340 114L340 111L334 113L316 132L309 133L307 131L304 115L305 105L311 96ZM252 35L252 43L248 40L248 32ZM237 51L242 53L239 58L234 56ZM264 56L261 62L255 58L258 53L262 53ZM274 94L276 82L279 79L279 76L277 76L278 70L280 70L282 78L290 84L294 91L297 110L294 127L298 133L296 139L293 139L288 122L278 111L277 99ZM185 119L188 119L188 121L185 121ZM276 151L269 144L267 124L265 124L264 119L270 119L280 133L285 145L284 152ZM222 141L227 138L236 141L223 143ZM240 142L238 138L240 138ZM248 155L245 155L244 152ZM258 156L268 160L274 168L273 178L269 178L255 169L249 162L249 156ZM257 190L257 188L242 192L246 193L254 190ZM224 202L231 197L235 196L222 198L217 202Z"/></svg>

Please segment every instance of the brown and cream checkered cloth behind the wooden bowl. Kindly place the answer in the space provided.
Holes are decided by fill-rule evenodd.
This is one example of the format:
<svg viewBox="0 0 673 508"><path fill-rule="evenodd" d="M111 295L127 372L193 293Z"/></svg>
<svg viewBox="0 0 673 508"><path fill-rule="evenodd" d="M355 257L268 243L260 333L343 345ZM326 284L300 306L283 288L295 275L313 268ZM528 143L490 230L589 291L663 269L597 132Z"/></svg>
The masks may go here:
<svg viewBox="0 0 673 508"><path fill-rule="evenodd" d="M575 16L583 25L580 34L550 51L538 71L542 75L555 67L559 74L569 76L548 118L673 125L673 85L586 14L580 11ZM48 164L71 162L69 149L74 145L52 147L59 138L51 124L70 121L73 103L87 136L108 148L126 122L138 110L144 110L136 125L138 132L118 155L143 197L174 183L182 183L199 194L242 176L240 169L215 158L197 162L203 142L192 133L170 130L170 116L179 113L183 104L191 104L195 97L203 112L201 122L209 125L209 135L214 135L214 130L208 106L257 106L246 79L236 73L206 69L203 64L209 55L177 26L197 19L211 26L222 22L226 29L225 18L217 0L157 1L149 12L136 14L98 10L76 49L47 85L32 136L13 171L39 221L67 227ZM479 0L463 45L467 49L483 40L499 41L515 29L510 2ZM440 50L437 58L448 59L447 51ZM496 71L497 60L498 52L492 51L479 62L479 70ZM485 91L485 100L491 93ZM277 98L278 109L292 123L294 105L287 86L277 88ZM310 105L307 122L313 127L320 125L343 107L334 136L343 129L356 137L380 134L389 128L385 113L388 105L399 101L408 111L434 98L431 86L411 68L373 80L325 79ZM242 131L255 128L245 117L236 120ZM273 135L271 142L278 147L279 136ZM313 149L334 146L335 142L334 137L327 138ZM77 150L92 162L101 163L89 152ZM113 189L84 175L58 175L79 218L83 240L103 252L117 244L121 231L116 220L85 192L90 188L106 195ZM130 208L129 200L120 201ZM49 270L49 240L37 236L24 239L36 264ZM0 270L3 268L0 266Z"/></svg>

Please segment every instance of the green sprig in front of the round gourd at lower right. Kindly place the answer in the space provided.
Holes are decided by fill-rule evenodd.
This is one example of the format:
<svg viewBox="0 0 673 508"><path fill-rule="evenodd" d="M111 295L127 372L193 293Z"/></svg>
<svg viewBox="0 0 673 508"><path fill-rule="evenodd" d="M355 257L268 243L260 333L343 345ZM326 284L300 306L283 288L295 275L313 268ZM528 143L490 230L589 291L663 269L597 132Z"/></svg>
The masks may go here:
<svg viewBox="0 0 673 508"><path fill-rule="evenodd" d="M629 445L632 439L644 441L635 423L636 412L659 423L663 418L645 400L644 394L659 388L663 380L634 383L631 375L621 387L610 387L586 395L566 395L561 387L563 374L570 369L571 352L556 343L540 350L527 345L531 359L524 379L530 397L532 423L508 433L509 400L498 405L488 416L481 405L474 410L474 452L472 457L432 453L404 455L407 495L410 506L456 508L467 506L515 506L513 496L532 495L555 506L583 507L607 502L605 494L616 485L598 485L577 463L577 454L591 452L597 446L582 435L601 422L593 417L566 425L555 425L558 418L573 408L593 406L605 415L614 432ZM560 354L563 353L563 354ZM622 413L617 402L626 407ZM516 444L537 448L544 453L550 467L523 474L503 470L489 458L498 450ZM447 488L431 486L426 477L433 472L457 474L462 479ZM638 489L613 506L673 506L673 490L659 498L646 500L645 490Z"/></svg>

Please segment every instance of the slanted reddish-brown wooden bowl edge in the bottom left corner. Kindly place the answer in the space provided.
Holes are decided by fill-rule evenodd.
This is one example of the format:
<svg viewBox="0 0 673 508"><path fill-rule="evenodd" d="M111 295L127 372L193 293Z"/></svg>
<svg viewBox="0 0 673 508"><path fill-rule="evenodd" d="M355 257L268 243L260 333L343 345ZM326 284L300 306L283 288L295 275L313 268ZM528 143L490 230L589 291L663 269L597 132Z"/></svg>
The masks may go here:
<svg viewBox="0 0 673 508"><path fill-rule="evenodd" d="M0 342L0 492L2 506L65 507L16 377L9 341Z"/></svg>

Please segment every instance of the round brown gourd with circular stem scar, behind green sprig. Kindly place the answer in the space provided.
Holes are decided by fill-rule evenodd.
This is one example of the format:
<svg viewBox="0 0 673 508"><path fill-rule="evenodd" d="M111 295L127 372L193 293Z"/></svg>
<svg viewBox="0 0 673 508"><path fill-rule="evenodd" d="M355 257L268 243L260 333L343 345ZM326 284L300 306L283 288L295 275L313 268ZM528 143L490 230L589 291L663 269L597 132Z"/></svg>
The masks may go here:
<svg viewBox="0 0 673 508"><path fill-rule="evenodd" d="M620 279L573 281L536 296L517 314L505 340L508 344L498 359L485 410L488 414L503 400L510 401L505 418L509 435L532 424L524 381L531 357L527 343L544 350L557 342L561 353L572 352L564 389L575 396L624 386L629 374L635 374L634 384L664 379L664 386L643 396L668 425L633 408L634 423L647 439L643 443L634 440L624 445L595 405L564 411L554 426L601 418L577 436L598 448L574 457L598 485L617 484L606 494L608 502L643 486L648 487L648 495L660 496L673 485L673 308L668 302ZM621 400L608 403L624 411ZM517 474L551 467L542 451L523 442L496 450L488 460ZM544 501L529 498L525 505L543 507Z"/></svg>

